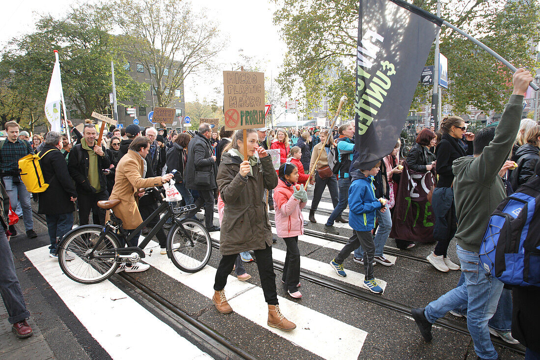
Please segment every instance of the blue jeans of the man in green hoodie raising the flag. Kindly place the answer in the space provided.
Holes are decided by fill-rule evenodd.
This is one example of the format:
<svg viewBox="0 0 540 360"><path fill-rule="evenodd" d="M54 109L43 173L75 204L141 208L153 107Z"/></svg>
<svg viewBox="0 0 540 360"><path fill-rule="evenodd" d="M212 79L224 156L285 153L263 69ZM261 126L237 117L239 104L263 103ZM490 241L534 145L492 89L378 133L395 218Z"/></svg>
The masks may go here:
<svg viewBox="0 0 540 360"><path fill-rule="evenodd" d="M488 321L497 309L503 283L489 276L480 265L477 252L464 250L457 245L457 257L465 275L465 283L430 302L424 314L430 323L434 323L448 311L466 304L467 328L473 338L476 355L482 359L497 359L497 351L489 335Z"/></svg>

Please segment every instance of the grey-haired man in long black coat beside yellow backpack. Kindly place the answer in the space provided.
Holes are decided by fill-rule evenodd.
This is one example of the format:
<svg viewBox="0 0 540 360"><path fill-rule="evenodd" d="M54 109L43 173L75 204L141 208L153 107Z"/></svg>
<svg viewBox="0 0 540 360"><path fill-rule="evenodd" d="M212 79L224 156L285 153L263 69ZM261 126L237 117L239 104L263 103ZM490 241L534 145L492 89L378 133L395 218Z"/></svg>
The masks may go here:
<svg viewBox="0 0 540 360"><path fill-rule="evenodd" d="M73 226L73 203L77 200L77 191L73 179L69 176L68 164L60 151L63 148L62 135L50 131L45 138L45 145L39 152L41 171L49 187L38 194L38 214L44 214L49 230L51 246L49 256L57 258L58 239L62 238Z"/></svg>

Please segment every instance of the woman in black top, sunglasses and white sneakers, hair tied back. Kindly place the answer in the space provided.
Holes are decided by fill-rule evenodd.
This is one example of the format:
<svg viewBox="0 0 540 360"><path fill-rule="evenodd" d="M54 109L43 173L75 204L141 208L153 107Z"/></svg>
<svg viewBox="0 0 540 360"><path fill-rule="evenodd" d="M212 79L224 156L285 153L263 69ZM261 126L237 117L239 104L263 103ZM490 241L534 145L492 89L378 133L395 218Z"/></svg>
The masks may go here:
<svg viewBox="0 0 540 360"><path fill-rule="evenodd" d="M433 238L437 241L435 250L427 256L435 269L443 272L460 270L460 266L454 264L447 257L448 245L457 228L456 207L454 204L454 174L452 164L454 160L467 155L463 136L467 141L474 139L474 134L465 132L467 127L459 116L447 116L441 123L442 139L435 150L437 156L437 187L433 190L431 206L435 215Z"/></svg>

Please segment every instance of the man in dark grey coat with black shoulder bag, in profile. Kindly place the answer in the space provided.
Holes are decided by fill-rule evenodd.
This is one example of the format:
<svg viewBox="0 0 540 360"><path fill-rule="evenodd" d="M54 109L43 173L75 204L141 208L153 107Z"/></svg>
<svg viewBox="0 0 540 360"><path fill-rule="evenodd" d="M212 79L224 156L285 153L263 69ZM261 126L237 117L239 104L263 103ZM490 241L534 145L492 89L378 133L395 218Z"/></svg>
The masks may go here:
<svg viewBox="0 0 540 360"><path fill-rule="evenodd" d="M211 136L210 124L202 123L199 126L199 132L187 146L187 163L184 172L186 188L199 192L199 198L195 201L197 208L190 211L187 217L197 214L204 204L206 230L219 231L219 226L214 226L214 190L218 188L215 181L218 166L215 163L210 143Z"/></svg>

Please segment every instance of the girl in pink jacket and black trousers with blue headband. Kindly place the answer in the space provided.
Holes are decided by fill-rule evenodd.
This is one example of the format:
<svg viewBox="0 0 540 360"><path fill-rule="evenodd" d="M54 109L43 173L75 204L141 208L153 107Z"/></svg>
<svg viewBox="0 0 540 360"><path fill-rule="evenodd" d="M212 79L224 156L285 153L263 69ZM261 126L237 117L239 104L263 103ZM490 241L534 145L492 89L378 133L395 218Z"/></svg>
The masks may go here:
<svg viewBox="0 0 540 360"><path fill-rule="evenodd" d="M300 250L298 236L303 234L302 209L306 206L307 192L298 184L298 168L292 163L281 164L278 186L274 189L275 228L287 244L287 255L281 281L294 298L302 297L300 286Z"/></svg>

